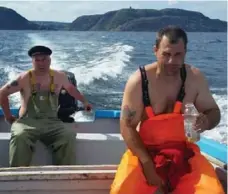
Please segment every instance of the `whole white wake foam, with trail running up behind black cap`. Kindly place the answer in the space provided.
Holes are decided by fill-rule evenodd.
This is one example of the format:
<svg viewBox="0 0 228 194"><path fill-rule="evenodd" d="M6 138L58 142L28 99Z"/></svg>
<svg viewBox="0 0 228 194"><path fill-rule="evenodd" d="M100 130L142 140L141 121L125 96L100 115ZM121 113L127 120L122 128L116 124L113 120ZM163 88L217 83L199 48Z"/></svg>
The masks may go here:
<svg viewBox="0 0 228 194"><path fill-rule="evenodd" d="M78 84L89 84L94 79L99 78L107 80L109 76L116 77L122 72L126 62L130 60L130 55L128 55L127 52L133 50L132 46L116 43L111 46L103 47L101 51L97 53L97 57L94 60L88 61L86 65L71 65L67 60L64 61L69 55L58 48L56 44L43 39L36 33L30 33L28 36L34 45L46 45L52 48L54 52L52 54L51 66L57 70L67 68L75 74Z"/></svg>

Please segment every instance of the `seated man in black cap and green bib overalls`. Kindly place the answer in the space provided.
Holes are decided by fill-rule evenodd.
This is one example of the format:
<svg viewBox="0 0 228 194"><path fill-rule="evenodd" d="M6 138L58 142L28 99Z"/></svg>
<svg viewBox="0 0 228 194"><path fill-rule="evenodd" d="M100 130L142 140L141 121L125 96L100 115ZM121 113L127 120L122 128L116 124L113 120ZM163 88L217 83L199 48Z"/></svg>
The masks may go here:
<svg viewBox="0 0 228 194"><path fill-rule="evenodd" d="M60 89L65 88L72 97L80 100L86 110L91 105L68 81L65 73L50 69L51 49L35 46L28 54L32 58L33 68L0 89L0 104L5 119L12 124L10 166L30 165L37 140L52 150L55 165L73 165L76 134L57 117ZM10 112L8 96L18 91L21 94L21 108L19 118L16 118Z"/></svg>

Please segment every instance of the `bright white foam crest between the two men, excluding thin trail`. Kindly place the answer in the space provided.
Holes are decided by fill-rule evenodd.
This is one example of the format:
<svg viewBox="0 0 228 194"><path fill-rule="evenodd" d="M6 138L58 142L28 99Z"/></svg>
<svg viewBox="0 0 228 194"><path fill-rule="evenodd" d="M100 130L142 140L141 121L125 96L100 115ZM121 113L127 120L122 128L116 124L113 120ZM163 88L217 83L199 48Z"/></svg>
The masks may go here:
<svg viewBox="0 0 228 194"><path fill-rule="evenodd" d="M126 62L130 61L131 57L127 52L132 50L132 46L121 43L103 47L94 60L88 61L85 66L70 68L70 71L77 77L77 82L83 84L89 84L94 79L107 80L108 77L116 77L122 72Z"/></svg>

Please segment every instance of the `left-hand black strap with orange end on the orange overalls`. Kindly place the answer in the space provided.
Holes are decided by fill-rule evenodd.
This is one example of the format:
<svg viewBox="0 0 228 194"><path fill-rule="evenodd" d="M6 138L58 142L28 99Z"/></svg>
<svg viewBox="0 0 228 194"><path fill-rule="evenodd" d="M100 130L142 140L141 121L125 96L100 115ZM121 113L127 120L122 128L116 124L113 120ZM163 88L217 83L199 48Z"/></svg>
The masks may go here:
<svg viewBox="0 0 228 194"><path fill-rule="evenodd" d="M146 70L144 66L140 66L141 80L142 80L142 94L143 94L143 104L148 117L154 116L153 109L150 103L149 90L148 90L148 79L146 75Z"/></svg>

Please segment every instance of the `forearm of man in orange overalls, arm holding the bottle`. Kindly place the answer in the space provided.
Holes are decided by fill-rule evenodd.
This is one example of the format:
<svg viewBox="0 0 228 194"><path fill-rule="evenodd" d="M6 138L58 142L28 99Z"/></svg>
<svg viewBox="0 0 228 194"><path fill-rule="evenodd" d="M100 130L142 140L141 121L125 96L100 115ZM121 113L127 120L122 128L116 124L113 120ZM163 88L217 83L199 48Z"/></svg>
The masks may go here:
<svg viewBox="0 0 228 194"><path fill-rule="evenodd" d="M209 121L209 128L206 130L211 130L215 128L221 119L221 113L218 108L210 109L208 111L205 111L204 114L207 116Z"/></svg>

